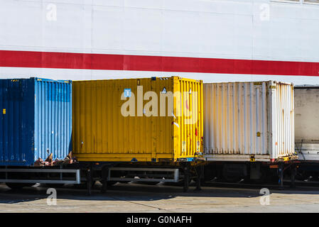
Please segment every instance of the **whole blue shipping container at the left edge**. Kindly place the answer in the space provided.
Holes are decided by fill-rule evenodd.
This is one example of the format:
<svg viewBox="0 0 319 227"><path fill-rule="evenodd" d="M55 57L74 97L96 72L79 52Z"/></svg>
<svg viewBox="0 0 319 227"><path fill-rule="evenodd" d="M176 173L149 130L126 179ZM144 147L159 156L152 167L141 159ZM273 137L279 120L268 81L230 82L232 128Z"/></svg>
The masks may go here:
<svg viewBox="0 0 319 227"><path fill-rule="evenodd" d="M0 79L0 165L64 159L71 150L72 82Z"/></svg>

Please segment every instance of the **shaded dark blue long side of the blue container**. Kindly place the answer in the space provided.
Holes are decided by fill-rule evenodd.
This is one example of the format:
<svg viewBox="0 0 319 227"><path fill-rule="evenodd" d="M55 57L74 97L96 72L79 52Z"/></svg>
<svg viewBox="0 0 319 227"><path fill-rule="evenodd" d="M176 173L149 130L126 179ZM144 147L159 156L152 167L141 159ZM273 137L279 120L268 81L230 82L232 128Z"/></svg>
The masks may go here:
<svg viewBox="0 0 319 227"><path fill-rule="evenodd" d="M28 79L0 80L0 165L32 165L32 100Z"/></svg>

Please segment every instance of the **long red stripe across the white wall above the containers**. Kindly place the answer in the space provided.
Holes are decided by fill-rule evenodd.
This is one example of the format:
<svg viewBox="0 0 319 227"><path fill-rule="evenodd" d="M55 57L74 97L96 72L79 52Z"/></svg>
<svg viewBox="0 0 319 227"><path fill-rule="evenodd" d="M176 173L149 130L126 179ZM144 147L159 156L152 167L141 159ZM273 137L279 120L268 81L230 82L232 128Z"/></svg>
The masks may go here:
<svg viewBox="0 0 319 227"><path fill-rule="evenodd" d="M0 67L319 76L319 62L0 50Z"/></svg>

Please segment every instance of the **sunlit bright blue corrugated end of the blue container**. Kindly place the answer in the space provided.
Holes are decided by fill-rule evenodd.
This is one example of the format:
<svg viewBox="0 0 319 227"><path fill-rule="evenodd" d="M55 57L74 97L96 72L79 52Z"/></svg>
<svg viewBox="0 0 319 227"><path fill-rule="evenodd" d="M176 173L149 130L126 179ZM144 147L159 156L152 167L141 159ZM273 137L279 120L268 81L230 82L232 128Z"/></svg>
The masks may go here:
<svg viewBox="0 0 319 227"><path fill-rule="evenodd" d="M34 158L63 160L71 150L72 84L36 79Z"/></svg>

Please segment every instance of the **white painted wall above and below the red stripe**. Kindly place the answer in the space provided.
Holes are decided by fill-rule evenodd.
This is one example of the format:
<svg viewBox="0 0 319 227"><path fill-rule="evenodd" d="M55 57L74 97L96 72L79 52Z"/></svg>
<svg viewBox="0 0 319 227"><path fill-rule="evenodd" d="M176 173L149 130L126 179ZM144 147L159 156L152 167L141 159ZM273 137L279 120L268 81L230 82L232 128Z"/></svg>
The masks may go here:
<svg viewBox="0 0 319 227"><path fill-rule="evenodd" d="M0 6L0 50L319 62L319 4L269 0L0 0ZM0 77L31 74L53 79L178 74L204 82L277 79L318 84L319 80L0 67Z"/></svg>

